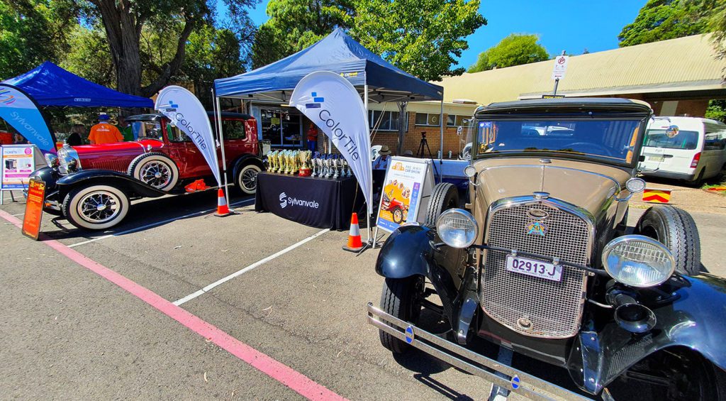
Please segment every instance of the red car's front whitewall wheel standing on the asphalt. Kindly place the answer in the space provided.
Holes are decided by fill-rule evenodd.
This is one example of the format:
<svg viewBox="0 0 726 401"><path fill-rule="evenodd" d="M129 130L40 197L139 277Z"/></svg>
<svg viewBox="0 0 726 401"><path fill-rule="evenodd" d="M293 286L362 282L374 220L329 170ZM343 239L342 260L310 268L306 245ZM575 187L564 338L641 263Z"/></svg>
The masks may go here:
<svg viewBox="0 0 726 401"><path fill-rule="evenodd" d="M121 223L129 213L129 197L117 187L89 185L65 195L61 210L78 228L105 230Z"/></svg>

